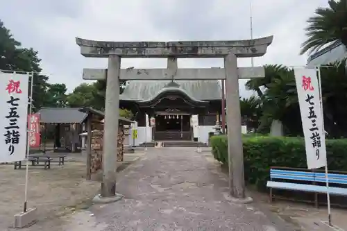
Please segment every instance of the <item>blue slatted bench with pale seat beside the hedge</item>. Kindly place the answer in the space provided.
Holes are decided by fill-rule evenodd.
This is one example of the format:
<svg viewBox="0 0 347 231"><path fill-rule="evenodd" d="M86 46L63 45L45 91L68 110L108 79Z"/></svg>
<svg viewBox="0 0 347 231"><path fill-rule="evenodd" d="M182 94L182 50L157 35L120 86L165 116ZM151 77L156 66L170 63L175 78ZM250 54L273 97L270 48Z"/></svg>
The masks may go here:
<svg viewBox="0 0 347 231"><path fill-rule="evenodd" d="M328 173L331 195L347 196L347 173ZM271 167L270 180L266 187L270 188L270 201L275 196L272 189L305 191L315 194L315 205L318 207L318 194L326 194L325 173L323 171L307 171L307 169L289 169Z"/></svg>

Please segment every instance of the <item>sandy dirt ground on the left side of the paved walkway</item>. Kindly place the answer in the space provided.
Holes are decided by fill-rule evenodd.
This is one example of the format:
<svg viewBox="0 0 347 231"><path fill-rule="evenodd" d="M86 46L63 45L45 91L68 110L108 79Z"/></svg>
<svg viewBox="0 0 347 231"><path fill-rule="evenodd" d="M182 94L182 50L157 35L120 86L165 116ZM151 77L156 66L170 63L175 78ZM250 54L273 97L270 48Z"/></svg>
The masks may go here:
<svg viewBox="0 0 347 231"><path fill-rule="evenodd" d="M125 156L121 171L139 154ZM13 164L0 164L0 230L12 227L14 215L22 212L24 203L25 168L14 170ZM85 180L85 157L69 153L63 166L51 163L51 169L29 164L28 207L36 207L39 221L63 216L76 209L90 207L99 193L100 182Z"/></svg>

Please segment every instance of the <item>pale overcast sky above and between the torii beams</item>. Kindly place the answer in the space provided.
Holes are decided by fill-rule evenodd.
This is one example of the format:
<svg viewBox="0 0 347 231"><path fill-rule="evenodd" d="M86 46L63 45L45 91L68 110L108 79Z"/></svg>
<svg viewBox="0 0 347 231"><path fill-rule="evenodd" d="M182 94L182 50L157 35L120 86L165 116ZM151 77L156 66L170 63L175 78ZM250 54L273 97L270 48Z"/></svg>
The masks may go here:
<svg viewBox="0 0 347 231"><path fill-rule="evenodd" d="M105 58L84 58L75 37L113 41L244 40L250 38L250 1L237 0L0 0L0 19L15 39L39 51L50 83L71 91L82 69L105 68ZM252 0L253 37L274 35L255 65L305 65L298 55L306 20L328 0ZM121 67L163 68L164 59L123 59ZM250 66L249 58L239 66ZM182 59L178 67L223 67L222 59ZM240 94L248 96L240 81Z"/></svg>

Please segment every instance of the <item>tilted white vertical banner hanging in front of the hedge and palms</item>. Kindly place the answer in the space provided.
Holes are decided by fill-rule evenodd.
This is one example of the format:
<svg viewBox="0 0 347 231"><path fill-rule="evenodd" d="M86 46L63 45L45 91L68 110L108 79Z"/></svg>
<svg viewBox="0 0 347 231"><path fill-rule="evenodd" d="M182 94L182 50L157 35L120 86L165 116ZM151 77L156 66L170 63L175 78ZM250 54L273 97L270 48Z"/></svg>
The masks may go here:
<svg viewBox="0 0 347 231"><path fill-rule="evenodd" d="M325 132L316 69L294 69L308 169L326 166Z"/></svg>

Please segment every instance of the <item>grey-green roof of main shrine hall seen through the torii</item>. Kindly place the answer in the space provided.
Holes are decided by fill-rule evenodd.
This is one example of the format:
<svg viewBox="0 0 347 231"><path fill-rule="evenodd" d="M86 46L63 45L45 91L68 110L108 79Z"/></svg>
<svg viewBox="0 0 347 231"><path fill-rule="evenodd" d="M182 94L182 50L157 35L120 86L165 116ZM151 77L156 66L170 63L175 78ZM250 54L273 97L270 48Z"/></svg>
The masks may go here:
<svg viewBox="0 0 347 231"><path fill-rule="evenodd" d="M124 101L149 101L159 93L170 91L169 80L131 80L120 99ZM197 101L221 100L218 80L175 80L178 89Z"/></svg>

